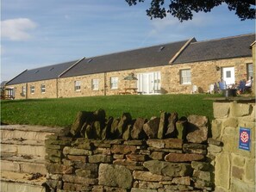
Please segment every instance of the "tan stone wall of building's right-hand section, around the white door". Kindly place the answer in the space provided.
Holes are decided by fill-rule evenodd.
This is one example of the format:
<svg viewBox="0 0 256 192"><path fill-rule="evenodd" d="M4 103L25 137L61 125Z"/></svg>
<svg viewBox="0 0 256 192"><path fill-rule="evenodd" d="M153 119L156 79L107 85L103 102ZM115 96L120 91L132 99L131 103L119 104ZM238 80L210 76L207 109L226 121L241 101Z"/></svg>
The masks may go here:
<svg viewBox="0 0 256 192"><path fill-rule="evenodd" d="M239 83L240 80L246 79L247 64L252 64L253 59L239 58L239 59L220 59L202 61L188 64L171 65L169 93L190 93L191 85L197 85L199 92L207 92L210 84L215 84L221 81L222 67L234 66L235 81ZM190 69L191 84L180 84L180 70Z"/></svg>

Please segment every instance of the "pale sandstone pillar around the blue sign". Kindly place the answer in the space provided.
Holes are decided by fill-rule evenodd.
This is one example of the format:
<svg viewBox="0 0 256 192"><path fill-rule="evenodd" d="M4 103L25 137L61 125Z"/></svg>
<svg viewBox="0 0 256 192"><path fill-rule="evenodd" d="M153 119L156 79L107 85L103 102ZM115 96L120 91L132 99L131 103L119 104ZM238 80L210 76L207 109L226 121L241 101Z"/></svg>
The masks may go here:
<svg viewBox="0 0 256 192"><path fill-rule="evenodd" d="M214 102L212 138L222 147L209 145L215 157L215 191L255 191L255 98L252 101ZM240 127L250 130L250 150L239 147ZM245 139L247 137L245 136Z"/></svg>

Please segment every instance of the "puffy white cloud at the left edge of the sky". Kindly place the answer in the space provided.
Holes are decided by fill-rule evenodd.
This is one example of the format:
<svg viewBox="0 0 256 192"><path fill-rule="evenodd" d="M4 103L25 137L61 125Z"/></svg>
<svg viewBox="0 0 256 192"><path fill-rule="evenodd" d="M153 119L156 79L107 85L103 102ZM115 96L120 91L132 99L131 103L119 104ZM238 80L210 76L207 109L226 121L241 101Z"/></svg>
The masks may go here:
<svg viewBox="0 0 256 192"><path fill-rule="evenodd" d="M1 21L2 37L9 40L28 40L32 38L29 30L36 28L36 23L28 18L17 18Z"/></svg>

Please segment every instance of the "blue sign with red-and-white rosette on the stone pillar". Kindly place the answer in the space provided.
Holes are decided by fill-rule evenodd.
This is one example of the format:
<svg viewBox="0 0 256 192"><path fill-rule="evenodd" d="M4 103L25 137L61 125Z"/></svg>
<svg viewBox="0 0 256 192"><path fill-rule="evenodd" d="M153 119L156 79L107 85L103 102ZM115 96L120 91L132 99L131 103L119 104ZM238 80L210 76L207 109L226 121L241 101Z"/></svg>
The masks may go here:
<svg viewBox="0 0 256 192"><path fill-rule="evenodd" d="M251 129L240 127L239 129L239 148L250 151L251 146Z"/></svg>

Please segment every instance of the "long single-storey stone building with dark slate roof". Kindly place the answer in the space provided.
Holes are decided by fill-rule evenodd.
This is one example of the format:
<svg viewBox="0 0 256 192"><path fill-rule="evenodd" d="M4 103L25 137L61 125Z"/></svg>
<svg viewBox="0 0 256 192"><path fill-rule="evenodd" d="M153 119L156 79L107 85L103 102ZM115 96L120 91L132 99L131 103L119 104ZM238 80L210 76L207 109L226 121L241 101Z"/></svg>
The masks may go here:
<svg viewBox="0 0 256 192"><path fill-rule="evenodd" d="M6 87L16 99L207 92L253 76L255 34L195 38L23 71Z"/></svg>

